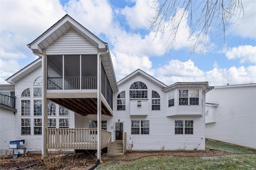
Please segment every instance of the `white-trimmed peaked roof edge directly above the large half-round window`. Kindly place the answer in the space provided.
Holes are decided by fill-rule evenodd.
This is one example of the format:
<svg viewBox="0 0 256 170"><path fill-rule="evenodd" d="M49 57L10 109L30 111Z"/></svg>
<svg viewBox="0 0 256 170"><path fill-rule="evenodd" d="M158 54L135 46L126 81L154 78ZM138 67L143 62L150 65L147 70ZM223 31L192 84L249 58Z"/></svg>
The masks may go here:
<svg viewBox="0 0 256 170"><path fill-rule="evenodd" d="M161 88L164 88L164 87L167 86L164 83L162 83L161 81L159 81L158 79L156 79L156 78L152 77L151 75L149 75L148 73L145 73L141 69L137 69L136 71L134 71L130 75L124 77L123 79L121 79L120 81L117 82L117 85L122 85L123 83L125 83L126 81L132 79L136 75L141 75L142 77L145 77L146 79L148 79L152 83L155 83L156 85L160 86Z"/></svg>

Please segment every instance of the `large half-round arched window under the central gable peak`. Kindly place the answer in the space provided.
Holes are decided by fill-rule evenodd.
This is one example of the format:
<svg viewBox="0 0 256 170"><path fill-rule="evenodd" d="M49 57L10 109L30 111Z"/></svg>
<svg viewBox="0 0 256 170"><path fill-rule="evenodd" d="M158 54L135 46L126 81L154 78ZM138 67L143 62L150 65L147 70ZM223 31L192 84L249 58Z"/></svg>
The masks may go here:
<svg viewBox="0 0 256 170"><path fill-rule="evenodd" d="M130 86L130 98L148 98L148 87L145 83L137 81Z"/></svg>

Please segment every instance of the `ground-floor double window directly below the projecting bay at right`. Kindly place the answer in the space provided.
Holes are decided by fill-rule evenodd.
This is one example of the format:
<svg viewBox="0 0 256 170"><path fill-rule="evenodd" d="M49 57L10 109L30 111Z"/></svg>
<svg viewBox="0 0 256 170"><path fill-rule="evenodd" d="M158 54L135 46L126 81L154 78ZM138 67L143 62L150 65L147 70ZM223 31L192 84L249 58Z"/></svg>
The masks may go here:
<svg viewBox="0 0 256 170"><path fill-rule="evenodd" d="M193 134L194 121L175 121L175 134Z"/></svg>

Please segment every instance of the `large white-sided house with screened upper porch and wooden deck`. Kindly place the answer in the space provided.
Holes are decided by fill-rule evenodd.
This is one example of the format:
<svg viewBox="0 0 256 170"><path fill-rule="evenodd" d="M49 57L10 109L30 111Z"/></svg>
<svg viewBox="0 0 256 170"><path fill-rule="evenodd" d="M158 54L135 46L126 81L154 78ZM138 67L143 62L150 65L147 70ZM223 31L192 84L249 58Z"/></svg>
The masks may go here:
<svg viewBox="0 0 256 170"><path fill-rule="evenodd" d="M205 149L208 82L167 86L140 69L116 82L108 44L68 15L28 47L40 58L6 79L16 113L1 106L0 121L14 122L8 132L1 122L1 150L10 140L42 154L94 149L99 159L114 141L132 150Z"/></svg>

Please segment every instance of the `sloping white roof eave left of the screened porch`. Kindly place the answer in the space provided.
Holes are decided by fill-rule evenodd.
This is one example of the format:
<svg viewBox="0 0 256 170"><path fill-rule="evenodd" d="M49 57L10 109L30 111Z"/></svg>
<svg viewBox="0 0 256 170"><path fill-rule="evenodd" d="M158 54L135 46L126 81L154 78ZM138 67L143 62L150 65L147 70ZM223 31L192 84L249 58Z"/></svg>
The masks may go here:
<svg viewBox="0 0 256 170"><path fill-rule="evenodd" d="M38 58L11 77L5 79L8 83L15 85L16 82L18 82L20 79L25 77L26 75L32 73L34 70L38 69L42 66L42 59Z"/></svg>

